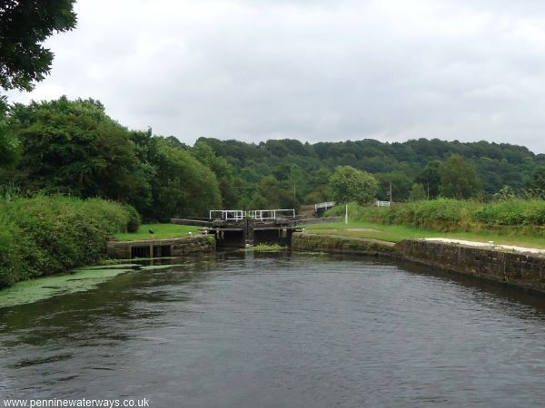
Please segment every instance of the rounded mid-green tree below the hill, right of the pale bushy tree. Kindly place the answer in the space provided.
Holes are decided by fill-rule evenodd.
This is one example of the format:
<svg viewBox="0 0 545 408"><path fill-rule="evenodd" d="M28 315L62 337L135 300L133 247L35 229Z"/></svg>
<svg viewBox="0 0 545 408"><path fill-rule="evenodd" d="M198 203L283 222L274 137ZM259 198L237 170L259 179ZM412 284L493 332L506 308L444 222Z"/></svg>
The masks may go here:
<svg viewBox="0 0 545 408"><path fill-rule="evenodd" d="M471 162L453 154L440 167L441 196L451 199L471 199L482 191L481 179Z"/></svg>

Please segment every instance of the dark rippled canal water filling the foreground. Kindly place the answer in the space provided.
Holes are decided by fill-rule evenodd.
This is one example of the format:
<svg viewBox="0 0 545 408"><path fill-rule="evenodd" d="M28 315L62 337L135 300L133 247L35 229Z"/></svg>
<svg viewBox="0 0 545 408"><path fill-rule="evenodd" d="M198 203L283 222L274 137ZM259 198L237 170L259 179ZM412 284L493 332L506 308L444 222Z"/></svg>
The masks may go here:
<svg viewBox="0 0 545 408"><path fill-rule="evenodd" d="M364 258L173 262L0 307L0 396L152 407L545 401L538 296Z"/></svg>

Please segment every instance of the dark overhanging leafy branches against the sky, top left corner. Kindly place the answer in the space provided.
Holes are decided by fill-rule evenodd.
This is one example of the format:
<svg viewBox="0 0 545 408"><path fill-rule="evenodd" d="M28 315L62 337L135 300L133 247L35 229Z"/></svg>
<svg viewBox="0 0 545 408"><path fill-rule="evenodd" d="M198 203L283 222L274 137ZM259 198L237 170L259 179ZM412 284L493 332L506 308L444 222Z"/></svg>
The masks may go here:
<svg viewBox="0 0 545 408"><path fill-rule="evenodd" d="M0 87L30 91L51 69L42 43L75 26L75 0L4 0L0 5Z"/></svg>

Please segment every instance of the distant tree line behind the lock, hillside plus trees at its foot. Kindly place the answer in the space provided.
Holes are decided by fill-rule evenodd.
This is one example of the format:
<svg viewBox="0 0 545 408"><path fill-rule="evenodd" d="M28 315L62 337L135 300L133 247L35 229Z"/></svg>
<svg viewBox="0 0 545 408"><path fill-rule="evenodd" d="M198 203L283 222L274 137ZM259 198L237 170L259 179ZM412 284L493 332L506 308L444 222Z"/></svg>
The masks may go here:
<svg viewBox="0 0 545 408"><path fill-rule="evenodd" d="M208 144L231 164L236 189L251 203L271 185L283 190L285 204L341 199L346 183L354 180L352 170L376 180L368 179L367 187L359 188L360 194L371 194L372 199L545 197L545 155L506 143L437 139L244 143L211 138L197 143ZM368 190L363 193L363 189Z"/></svg>

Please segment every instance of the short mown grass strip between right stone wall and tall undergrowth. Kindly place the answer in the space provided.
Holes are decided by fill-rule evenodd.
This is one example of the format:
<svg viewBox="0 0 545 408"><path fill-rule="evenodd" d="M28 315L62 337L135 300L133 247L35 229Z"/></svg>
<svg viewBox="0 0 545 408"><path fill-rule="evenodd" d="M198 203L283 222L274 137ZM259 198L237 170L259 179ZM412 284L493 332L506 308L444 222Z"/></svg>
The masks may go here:
<svg viewBox="0 0 545 408"><path fill-rule="evenodd" d="M339 235L342 237L374 238L390 242L399 242L403 239L418 238L452 238L465 239L469 241L488 242L496 244L516 245L519 247L530 247L545 249L545 239L517 234L496 234L488 231L476 232L439 232L404 225L383 225L365 221L350 221L316 224L304 226L309 232L315 234ZM367 228L376 231L351 231L353 228Z"/></svg>

